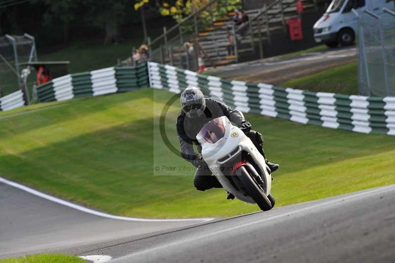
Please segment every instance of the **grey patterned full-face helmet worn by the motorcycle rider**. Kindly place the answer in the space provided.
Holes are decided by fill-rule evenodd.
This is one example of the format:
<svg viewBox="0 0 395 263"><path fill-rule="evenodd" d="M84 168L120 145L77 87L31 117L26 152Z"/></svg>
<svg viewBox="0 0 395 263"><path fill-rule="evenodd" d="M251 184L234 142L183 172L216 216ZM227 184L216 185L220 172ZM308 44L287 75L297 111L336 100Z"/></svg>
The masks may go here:
<svg viewBox="0 0 395 263"><path fill-rule="evenodd" d="M195 118L203 115L206 108L206 100L203 92L196 87L186 88L181 93L181 107L188 118Z"/></svg>

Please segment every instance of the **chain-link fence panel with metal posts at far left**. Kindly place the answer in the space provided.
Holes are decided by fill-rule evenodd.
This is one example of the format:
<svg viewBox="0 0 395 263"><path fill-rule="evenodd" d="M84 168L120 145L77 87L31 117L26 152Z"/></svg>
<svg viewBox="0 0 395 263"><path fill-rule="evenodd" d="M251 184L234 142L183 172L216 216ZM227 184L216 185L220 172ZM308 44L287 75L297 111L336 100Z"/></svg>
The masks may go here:
<svg viewBox="0 0 395 263"><path fill-rule="evenodd" d="M37 61L34 37L28 34L0 37L0 97L19 90L21 85L35 84L34 74L29 75L26 83L21 77L22 70L27 68L21 64L32 61Z"/></svg>

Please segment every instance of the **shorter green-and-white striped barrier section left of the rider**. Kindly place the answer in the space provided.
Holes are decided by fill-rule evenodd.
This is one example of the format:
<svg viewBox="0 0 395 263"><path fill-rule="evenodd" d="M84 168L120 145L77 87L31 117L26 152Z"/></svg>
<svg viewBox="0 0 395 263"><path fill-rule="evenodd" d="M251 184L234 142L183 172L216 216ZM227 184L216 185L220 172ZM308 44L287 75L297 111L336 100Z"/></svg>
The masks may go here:
<svg viewBox="0 0 395 263"><path fill-rule="evenodd" d="M98 96L148 87L147 65L110 67L69 74L36 88L38 100L61 101L77 97Z"/></svg>

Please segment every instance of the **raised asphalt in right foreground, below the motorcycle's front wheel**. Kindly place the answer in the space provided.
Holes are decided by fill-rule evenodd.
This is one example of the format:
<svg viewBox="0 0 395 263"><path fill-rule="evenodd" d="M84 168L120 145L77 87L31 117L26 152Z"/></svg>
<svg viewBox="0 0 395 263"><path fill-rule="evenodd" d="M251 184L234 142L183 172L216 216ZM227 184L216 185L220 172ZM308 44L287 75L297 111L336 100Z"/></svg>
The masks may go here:
<svg viewBox="0 0 395 263"><path fill-rule="evenodd" d="M395 185L108 247L123 262L394 262Z"/></svg>

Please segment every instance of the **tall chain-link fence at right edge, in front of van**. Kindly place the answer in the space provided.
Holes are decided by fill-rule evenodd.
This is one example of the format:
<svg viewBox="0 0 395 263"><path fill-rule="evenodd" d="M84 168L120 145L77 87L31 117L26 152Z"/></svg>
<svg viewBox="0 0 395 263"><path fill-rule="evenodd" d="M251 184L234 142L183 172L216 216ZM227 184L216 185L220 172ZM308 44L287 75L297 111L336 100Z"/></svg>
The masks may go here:
<svg viewBox="0 0 395 263"><path fill-rule="evenodd" d="M358 82L365 96L395 96L395 13L358 15Z"/></svg>

